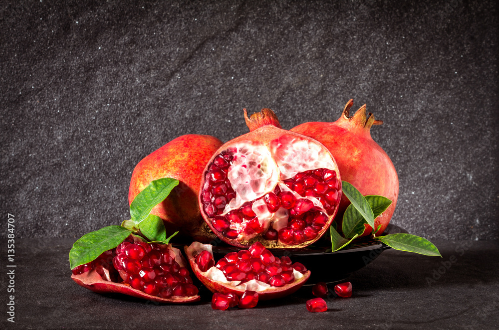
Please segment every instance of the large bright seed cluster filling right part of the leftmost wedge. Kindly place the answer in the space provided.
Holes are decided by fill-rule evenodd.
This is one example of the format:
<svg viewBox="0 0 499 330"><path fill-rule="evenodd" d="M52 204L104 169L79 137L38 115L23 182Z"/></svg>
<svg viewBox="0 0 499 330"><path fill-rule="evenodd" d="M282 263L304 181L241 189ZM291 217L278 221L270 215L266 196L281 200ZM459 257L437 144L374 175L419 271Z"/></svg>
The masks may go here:
<svg viewBox="0 0 499 330"><path fill-rule="evenodd" d="M148 295L170 298L198 294L189 270L172 258L168 245L125 241L116 248L113 264L125 283Z"/></svg>

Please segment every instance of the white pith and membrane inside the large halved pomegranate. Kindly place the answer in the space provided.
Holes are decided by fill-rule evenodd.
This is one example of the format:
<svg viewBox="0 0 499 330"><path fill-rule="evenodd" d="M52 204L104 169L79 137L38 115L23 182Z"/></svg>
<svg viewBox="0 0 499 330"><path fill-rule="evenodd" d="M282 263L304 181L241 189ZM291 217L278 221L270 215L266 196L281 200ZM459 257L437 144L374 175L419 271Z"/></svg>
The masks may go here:
<svg viewBox="0 0 499 330"><path fill-rule="evenodd" d="M277 232L288 225L289 211L280 207L275 213L269 212L264 199L268 192L278 186L281 191L290 191L296 199L308 199L314 209L328 215L322 203L313 196L301 196L288 188L282 181L297 173L317 168L327 168L337 172L330 154L323 147L307 139L283 134L268 146L260 142L240 141L227 147L234 157L227 172L227 178L234 189L235 198L228 201L221 216L239 209L245 202L253 201L251 209L256 214L261 233L269 228ZM208 181L208 179L206 179ZM204 189L208 182L205 181ZM328 215L329 217L329 215ZM248 234L245 228L252 219L241 223L231 222L230 229L237 231L238 240L250 240L260 233Z"/></svg>

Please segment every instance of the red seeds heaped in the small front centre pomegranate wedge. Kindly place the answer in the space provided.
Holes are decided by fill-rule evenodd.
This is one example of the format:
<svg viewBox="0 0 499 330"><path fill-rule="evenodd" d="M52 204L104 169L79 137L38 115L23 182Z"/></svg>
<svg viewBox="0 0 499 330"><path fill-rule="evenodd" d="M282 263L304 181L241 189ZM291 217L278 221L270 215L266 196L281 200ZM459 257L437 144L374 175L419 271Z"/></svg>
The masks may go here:
<svg viewBox="0 0 499 330"><path fill-rule="evenodd" d="M210 263L210 260L205 261L204 258L199 260L202 261L201 264L196 258L200 269L206 268L207 262ZM273 287L282 287L294 282L293 270L302 274L306 272L302 264L298 262L291 264L291 259L286 256L280 259L275 257L260 242L253 243L248 250L228 253L215 267L220 269L229 281L244 283L258 280Z"/></svg>

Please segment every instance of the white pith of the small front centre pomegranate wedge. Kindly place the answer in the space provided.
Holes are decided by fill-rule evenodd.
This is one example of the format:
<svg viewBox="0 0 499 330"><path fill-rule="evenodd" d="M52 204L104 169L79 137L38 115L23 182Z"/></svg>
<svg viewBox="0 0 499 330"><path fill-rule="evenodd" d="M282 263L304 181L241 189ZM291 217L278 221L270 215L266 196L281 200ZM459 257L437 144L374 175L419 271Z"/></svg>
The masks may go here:
<svg viewBox="0 0 499 330"><path fill-rule="evenodd" d="M200 242L193 242L191 245L189 245L189 247L186 250L186 253L187 253L187 255L191 255L193 257L196 257L198 254L200 254L203 251L210 252L210 254L213 257L212 245L211 244L203 244ZM215 258L214 258L214 260L215 260ZM207 277L213 281L224 283L228 286L232 286L235 289L242 290L242 291L250 290L250 291L260 292L260 291L267 290L269 288L273 288L270 284L267 284L267 283L264 283L264 282L261 282L258 280L254 280L254 279L250 280L248 282L245 282L245 283L241 283L242 281L229 281L225 277L224 272L222 272L220 269L218 269L215 266L209 268L206 272L202 272L202 274L205 277ZM305 276L304 274L301 274L300 272L298 272L295 269L293 269L293 275L294 275L294 282L296 282L296 280L299 280L303 276Z"/></svg>

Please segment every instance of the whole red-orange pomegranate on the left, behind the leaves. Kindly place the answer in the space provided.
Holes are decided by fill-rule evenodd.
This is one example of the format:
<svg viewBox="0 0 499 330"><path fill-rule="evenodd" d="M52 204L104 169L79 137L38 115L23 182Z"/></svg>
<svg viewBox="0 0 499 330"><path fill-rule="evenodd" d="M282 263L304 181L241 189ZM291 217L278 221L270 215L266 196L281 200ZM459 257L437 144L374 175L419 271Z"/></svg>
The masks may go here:
<svg viewBox="0 0 499 330"><path fill-rule="evenodd" d="M222 142L209 135L183 135L170 141L135 166L130 180L128 202L151 181L171 177L180 181L170 195L156 205L151 214L165 222L167 232L180 230L180 236L209 241L198 204L198 193L203 170Z"/></svg>

